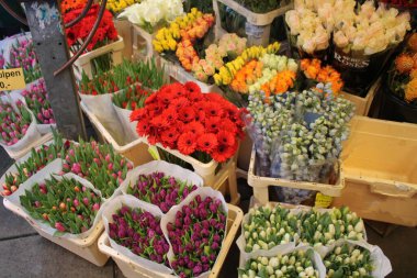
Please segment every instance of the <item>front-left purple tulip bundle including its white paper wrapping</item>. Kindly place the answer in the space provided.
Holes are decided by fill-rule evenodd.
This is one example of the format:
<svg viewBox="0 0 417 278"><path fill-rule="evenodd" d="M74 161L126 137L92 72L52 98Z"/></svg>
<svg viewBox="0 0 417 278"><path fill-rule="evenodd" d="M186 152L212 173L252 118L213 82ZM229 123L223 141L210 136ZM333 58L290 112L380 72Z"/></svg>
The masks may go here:
<svg viewBox="0 0 417 278"><path fill-rule="evenodd" d="M103 205L103 223L112 248L155 273L172 274L169 244L161 230L164 213L133 196L117 196Z"/></svg>

